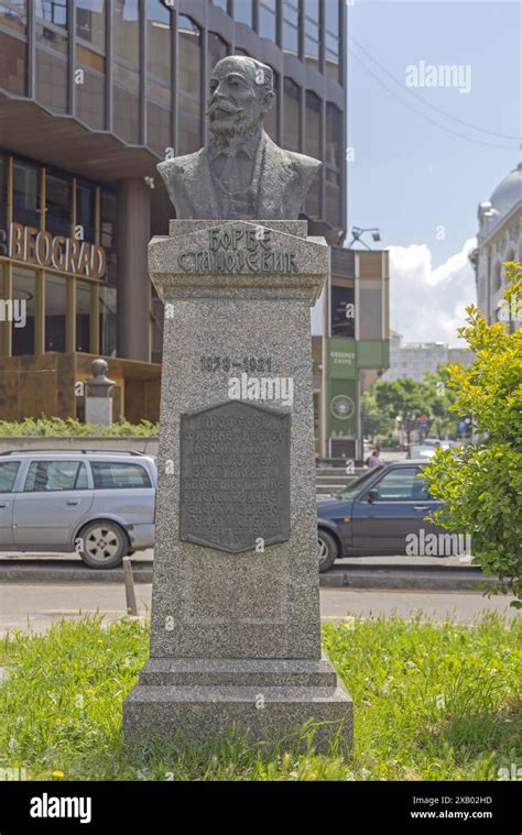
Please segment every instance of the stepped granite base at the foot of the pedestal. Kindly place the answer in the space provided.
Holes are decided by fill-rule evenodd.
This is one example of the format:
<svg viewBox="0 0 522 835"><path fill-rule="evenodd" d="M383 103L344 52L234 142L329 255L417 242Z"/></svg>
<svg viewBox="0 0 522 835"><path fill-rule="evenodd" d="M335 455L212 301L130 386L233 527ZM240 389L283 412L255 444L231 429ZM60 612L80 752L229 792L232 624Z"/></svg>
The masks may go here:
<svg viewBox="0 0 522 835"><path fill-rule="evenodd" d="M295 743L317 723L313 745L324 754L338 735L352 741L352 703L322 659L151 658L123 705L130 748L153 740L193 744L222 738L231 729L262 747Z"/></svg>

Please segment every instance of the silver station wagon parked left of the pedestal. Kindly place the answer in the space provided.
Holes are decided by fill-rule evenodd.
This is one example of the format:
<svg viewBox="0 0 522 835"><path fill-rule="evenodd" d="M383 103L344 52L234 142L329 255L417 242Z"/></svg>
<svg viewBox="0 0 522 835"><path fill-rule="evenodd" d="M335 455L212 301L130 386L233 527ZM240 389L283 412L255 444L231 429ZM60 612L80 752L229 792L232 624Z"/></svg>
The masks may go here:
<svg viewBox="0 0 522 835"><path fill-rule="evenodd" d="M154 459L139 452L0 454L0 551L76 551L95 569L154 545Z"/></svg>

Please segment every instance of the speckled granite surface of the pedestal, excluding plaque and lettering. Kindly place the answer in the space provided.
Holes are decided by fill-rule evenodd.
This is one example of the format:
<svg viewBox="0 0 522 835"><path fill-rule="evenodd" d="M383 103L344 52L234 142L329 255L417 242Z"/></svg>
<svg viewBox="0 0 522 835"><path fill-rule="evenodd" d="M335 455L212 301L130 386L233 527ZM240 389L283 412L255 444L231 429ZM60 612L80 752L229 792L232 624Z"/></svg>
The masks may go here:
<svg viewBox="0 0 522 835"><path fill-rule="evenodd" d="M151 658L124 703L130 746L178 732L219 736L232 723L274 740L308 719L326 722L319 744L339 726L351 740L351 700L319 642L309 307L328 275L329 250L304 238L298 221L270 226L267 233L246 221L172 221L171 235L149 246L166 308ZM207 257L222 240L252 257L222 272ZM199 261L194 253L203 253ZM259 268L273 266L272 253L284 271ZM229 380L241 374L227 363L205 370L208 356L270 359L267 376L293 381L292 404L262 403L290 411L292 427L290 539L264 552L180 540L180 417L229 399Z"/></svg>

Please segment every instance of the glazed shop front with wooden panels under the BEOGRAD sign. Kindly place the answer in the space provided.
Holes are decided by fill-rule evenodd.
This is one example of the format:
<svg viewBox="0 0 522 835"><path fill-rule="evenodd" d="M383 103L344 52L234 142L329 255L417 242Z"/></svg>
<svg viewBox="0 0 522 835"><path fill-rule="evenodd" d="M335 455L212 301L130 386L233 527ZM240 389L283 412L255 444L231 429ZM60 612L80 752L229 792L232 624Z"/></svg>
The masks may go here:
<svg viewBox="0 0 522 835"><path fill-rule="evenodd" d="M115 415L156 420L160 366L117 358L116 187L0 154L0 419L83 419L105 356Z"/></svg>

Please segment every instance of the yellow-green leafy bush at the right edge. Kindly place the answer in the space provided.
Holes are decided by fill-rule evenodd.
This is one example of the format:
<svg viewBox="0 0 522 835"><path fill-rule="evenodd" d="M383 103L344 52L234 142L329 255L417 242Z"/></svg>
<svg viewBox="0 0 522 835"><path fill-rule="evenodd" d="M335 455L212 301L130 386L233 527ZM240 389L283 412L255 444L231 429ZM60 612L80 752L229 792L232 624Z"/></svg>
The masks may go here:
<svg viewBox="0 0 522 835"><path fill-rule="evenodd" d="M505 304L520 311L522 265L504 267ZM499 578L491 593L513 594L513 605L522 607L522 329L489 326L474 305L467 314L459 334L477 359L467 369L448 367L456 393L450 408L472 413L481 440L438 450L426 468L429 492L445 504L434 520L471 534L475 564Z"/></svg>

